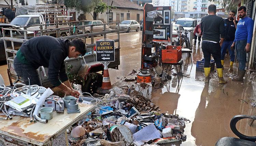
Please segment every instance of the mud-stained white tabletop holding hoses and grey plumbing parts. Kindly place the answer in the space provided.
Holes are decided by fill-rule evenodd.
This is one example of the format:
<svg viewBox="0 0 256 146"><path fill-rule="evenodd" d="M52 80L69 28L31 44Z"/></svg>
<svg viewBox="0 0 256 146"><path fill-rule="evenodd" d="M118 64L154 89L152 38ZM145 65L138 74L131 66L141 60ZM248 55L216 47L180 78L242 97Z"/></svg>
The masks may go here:
<svg viewBox="0 0 256 146"><path fill-rule="evenodd" d="M80 113L68 114L67 108L64 113L54 111L53 118L46 124L30 122L30 117L11 115L12 120L0 121L0 134L38 146L52 145L54 138L94 109L93 105L82 103L79 103L79 107Z"/></svg>

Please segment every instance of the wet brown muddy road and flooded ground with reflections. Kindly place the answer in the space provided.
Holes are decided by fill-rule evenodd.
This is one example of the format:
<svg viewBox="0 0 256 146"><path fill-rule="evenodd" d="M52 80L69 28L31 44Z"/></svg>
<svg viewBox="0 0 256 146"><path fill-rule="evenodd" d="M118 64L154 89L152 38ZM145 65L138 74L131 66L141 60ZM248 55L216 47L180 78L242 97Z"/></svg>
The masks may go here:
<svg viewBox="0 0 256 146"><path fill-rule="evenodd" d="M142 32L120 33L120 66L119 70L109 69L111 83L120 81L120 76L128 75L132 69L140 69L141 61L141 36ZM101 39L103 37L97 37ZM108 36L116 39L115 34ZM90 40L88 40L90 41ZM115 43L117 46L117 43ZM162 113L174 113L188 118L191 122L186 124L184 134L187 135L185 142L162 144L162 146L213 146L218 139L224 136L237 137L230 129L230 120L234 115L251 115L255 112L250 103L254 96L252 81L246 79L243 82L233 82L229 79L229 58L226 57L224 65L224 79L228 80L225 85L219 85L217 72L211 72L210 84L204 84L204 73L196 71L196 61L203 58L200 46L193 46L192 62L187 54L182 54L183 78L180 84L177 76L171 75L172 79L165 83L162 89L154 89L152 101L162 110ZM7 65L2 65L1 71L6 74ZM238 63L234 64L235 67ZM236 68L235 68L236 69ZM216 67L215 67L216 70ZM171 70L170 73L176 73ZM2 72L1 72L2 74ZM6 80L5 80L6 82ZM7 80L7 85L9 81ZM256 122L252 127L246 124L246 120L240 120L237 129L249 136L256 135Z"/></svg>

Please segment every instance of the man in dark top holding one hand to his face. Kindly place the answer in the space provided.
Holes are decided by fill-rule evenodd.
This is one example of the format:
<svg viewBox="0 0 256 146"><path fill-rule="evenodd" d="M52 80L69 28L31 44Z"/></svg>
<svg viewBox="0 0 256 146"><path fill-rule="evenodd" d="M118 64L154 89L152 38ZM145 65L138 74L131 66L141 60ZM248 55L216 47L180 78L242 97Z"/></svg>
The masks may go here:
<svg viewBox="0 0 256 146"><path fill-rule="evenodd" d="M231 50L230 47L234 41L235 33L237 30L237 20L235 17L236 12L233 10L230 10L228 12L228 18L224 20L225 25L225 40L223 41L223 44L221 46L221 64L222 67L224 66L224 58L226 51L228 49L229 56L230 56L230 65L228 71L233 71L233 64L234 64L234 50Z"/></svg>

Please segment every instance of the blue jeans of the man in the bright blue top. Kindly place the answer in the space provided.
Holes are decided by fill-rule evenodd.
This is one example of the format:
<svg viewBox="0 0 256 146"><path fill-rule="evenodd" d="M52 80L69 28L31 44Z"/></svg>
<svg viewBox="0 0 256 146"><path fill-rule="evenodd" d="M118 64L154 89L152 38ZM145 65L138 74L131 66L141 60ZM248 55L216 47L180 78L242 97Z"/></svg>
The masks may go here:
<svg viewBox="0 0 256 146"><path fill-rule="evenodd" d="M245 58L246 58L246 51L245 46L247 44L247 40L238 40L236 41L236 52L237 58L239 61L239 70L245 69Z"/></svg>

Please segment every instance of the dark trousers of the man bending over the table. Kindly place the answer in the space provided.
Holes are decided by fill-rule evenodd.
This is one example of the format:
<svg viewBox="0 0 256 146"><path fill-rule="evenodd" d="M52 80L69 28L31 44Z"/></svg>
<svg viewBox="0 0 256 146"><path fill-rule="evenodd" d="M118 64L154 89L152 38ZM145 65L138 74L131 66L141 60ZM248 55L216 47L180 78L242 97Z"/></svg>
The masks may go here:
<svg viewBox="0 0 256 146"><path fill-rule="evenodd" d="M17 76L22 78L24 84L29 85L30 80L30 85L42 86L37 73L38 67L32 64L24 64L17 57L14 58L13 66Z"/></svg>

